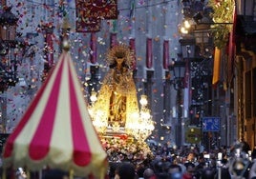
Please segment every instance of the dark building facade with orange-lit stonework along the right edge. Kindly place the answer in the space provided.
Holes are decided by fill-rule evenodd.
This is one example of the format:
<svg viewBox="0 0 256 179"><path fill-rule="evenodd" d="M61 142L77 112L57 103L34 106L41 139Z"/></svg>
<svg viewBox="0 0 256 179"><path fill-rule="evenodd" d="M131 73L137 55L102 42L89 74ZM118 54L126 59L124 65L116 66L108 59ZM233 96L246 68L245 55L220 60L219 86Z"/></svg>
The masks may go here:
<svg viewBox="0 0 256 179"><path fill-rule="evenodd" d="M234 107L239 139L256 145L256 1L237 1L236 58L234 62Z"/></svg>

